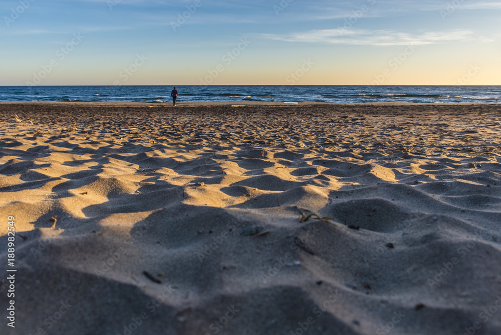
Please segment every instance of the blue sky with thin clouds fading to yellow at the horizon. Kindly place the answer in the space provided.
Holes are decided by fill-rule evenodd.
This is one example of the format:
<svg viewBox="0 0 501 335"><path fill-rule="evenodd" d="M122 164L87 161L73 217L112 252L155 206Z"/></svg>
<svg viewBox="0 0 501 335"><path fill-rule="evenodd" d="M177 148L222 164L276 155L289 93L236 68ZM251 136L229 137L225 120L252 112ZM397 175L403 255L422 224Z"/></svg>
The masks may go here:
<svg viewBox="0 0 501 335"><path fill-rule="evenodd" d="M2 0L0 85L501 85L501 2Z"/></svg>

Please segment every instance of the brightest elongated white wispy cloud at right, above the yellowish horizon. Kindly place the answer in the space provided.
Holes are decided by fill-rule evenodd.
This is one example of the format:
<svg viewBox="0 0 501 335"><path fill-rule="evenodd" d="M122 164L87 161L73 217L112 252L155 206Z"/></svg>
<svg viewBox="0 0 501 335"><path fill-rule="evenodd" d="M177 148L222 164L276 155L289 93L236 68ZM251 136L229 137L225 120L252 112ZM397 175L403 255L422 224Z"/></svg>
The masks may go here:
<svg viewBox="0 0 501 335"><path fill-rule="evenodd" d="M364 29L324 29L308 32L293 33L288 35L257 34L255 38L266 40L298 42L298 43L324 43L347 45L427 45L445 42L481 42L494 41L492 38L478 36L469 30L452 30L445 32L422 32L408 34L390 30L364 30Z"/></svg>

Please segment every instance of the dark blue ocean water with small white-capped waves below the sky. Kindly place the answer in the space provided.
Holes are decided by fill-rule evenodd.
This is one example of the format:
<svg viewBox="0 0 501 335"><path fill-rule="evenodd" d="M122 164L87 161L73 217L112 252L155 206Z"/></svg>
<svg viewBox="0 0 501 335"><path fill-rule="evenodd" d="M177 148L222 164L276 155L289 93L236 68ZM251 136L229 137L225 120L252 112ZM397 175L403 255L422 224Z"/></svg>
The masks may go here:
<svg viewBox="0 0 501 335"><path fill-rule="evenodd" d="M501 102L501 86L176 86L177 101ZM0 86L0 101L171 101L172 86Z"/></svg>

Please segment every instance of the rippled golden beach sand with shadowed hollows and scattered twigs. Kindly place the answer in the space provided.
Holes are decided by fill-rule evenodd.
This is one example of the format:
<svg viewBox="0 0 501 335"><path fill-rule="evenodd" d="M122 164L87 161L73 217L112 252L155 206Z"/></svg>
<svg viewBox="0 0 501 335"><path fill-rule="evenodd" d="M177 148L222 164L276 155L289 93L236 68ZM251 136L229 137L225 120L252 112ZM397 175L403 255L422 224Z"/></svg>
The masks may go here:
<svg viewBox="0 0 501 335"><path fill-rule="evenodd" d="M501 105L232 105L0 103L0 333L501 333Z"/></svg>

